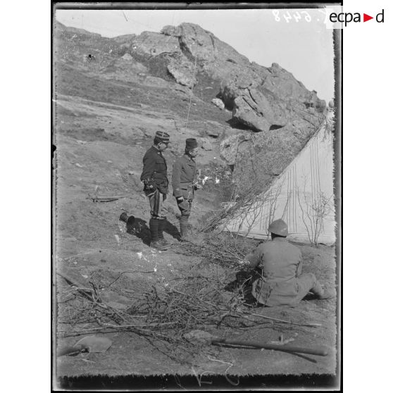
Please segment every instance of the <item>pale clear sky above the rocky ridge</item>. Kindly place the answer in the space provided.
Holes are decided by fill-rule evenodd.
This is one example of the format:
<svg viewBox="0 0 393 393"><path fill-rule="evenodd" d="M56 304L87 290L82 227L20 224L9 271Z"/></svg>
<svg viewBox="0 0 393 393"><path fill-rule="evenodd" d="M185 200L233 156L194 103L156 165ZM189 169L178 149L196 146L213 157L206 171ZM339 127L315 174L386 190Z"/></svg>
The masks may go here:
<svg viewBox="0 0 393 393"><path fill-rule="evenodd" d="M159 32L189 22L212 32L261 66L278 63L328 103L334 97L332 30L318 9L56 10L66 26L104 37Z"/></svg>

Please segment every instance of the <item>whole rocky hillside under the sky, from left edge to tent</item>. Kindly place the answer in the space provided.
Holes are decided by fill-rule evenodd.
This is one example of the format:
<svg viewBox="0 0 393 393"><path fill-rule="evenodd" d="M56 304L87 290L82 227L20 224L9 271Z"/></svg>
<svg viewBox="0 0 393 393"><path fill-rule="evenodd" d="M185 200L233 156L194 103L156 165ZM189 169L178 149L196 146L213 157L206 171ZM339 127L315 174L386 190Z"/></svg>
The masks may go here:
<svg viewBox="0 0 393 393"><path fill-rule="evenodd" d="M65 82L59 83L58 92L89 99L104 95L100 100L129 105L130 99L122 96L132 96L123 86L114 87L113 96L100 93L105 81L128 83L139 87L133 91L142 105L165 107L184 119L180 129L185 126L192 89L188 127L209 120L222 125L194 127L195 136L217 137L209 143L237 182L247 179L260 187L280 174L323 119L325 101L287 70L277 63L270 68L251 63L192 23L111 39L57 23L54 48L58 78ZM67 75L74 78L75 72L94 78L94 89L73 86L71 91ZM157 89L166 92L164 102L156 99ZM144 103L147 90L149 100ZM171 104L179 99L182 105Z"/></svg>

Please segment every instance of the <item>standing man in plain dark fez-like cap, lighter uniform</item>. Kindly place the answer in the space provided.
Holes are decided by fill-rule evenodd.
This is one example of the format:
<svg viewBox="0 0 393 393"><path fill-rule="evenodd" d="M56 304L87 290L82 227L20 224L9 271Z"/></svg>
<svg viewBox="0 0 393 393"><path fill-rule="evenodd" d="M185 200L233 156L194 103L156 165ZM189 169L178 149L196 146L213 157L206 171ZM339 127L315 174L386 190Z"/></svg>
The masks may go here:
<svg viewBox="0 0 393 393"><path fill-rule="evenodd" d="M194 158L198 155L198 143L194 138L186 139L185 154L173 163L172 188L180 209L180 235L183 241L187 240L188 218L191 213L194 191L201 189L196 181L196 163Z"/></svg>

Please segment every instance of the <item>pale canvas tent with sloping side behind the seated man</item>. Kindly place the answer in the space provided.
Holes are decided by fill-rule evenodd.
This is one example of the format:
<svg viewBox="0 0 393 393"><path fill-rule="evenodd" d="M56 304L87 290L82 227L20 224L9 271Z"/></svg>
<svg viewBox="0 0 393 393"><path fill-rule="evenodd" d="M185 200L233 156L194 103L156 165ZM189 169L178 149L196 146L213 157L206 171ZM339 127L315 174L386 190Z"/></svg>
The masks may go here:
<svg viewBox="0 0 393 393"><path fill-rule="evenodd" d="M267 239L269 223L282 218L292 241L334 244L333 137L327 125L328 119L270 187L239 208L222 229Z"/></svg>

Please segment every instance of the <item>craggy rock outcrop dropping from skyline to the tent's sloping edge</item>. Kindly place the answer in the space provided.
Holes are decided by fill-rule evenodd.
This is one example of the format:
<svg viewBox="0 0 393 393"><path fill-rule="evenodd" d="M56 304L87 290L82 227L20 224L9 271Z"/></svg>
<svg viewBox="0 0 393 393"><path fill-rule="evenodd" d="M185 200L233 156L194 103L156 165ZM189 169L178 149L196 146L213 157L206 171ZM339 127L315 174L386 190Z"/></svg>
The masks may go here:
<svg viewBox="0 0 393 393"><path fill-rule="evenodd" d="M253 131L220 144L237 183L263 185L280 174L322 122L325 101L277 63L250 63L199 26L166 27L165 35L179 40L183 61L196 59L199 75L221 81L219 97L233 120Z"/></svg>

